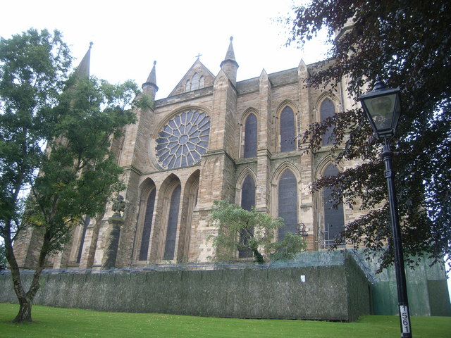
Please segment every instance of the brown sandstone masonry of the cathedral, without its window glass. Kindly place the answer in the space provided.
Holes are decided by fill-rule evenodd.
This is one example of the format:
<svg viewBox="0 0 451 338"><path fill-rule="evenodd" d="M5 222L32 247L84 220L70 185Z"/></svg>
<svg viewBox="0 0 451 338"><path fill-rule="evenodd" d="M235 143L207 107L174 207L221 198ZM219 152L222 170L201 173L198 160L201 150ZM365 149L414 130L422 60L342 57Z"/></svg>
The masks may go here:
<svg viewBox="0 0 451 338"><path fill-rule="evenodd" d="M259 77L236 82L237 65L235 61L227 60L222 63L223 69L216 76L197 60L166 99L154 100L156 87L150 83L143 87L154 101L152 108L137 109L136 123L125 127L123 137L114 142L112 147L119 165L124 169L121 178L126 188L121 194L127 202L114 265L116 268L209 262L214 248L207 238L218 231L208 222L213 201L225 199L239 203L241 183L245 179L243 173L252 173L254 177L257 210L277 217L279 178L283 170L292 171L297 177L297 223L302 223L308 234L307 250L323 249L320 236L324 230L323 199L321 192L312 194L310 189L311 182L322 175L321 170L328 163L333 163L333 153L330 153L330 146L325 146L321 151L307 151L308 144L299 144L299 138L292 141L298 143L299 149L280 151L280 113L286 106L292 108L295 114L295 135L300 135L311 123L321 120L319 107L324 98L334 102L337 112L342 111L342 108L351 108L349 102L345 104L343 101L345 93L334 92L331 84L317 89L305 87L305 81L322 66L321 63L306 65L301 61L297 68L272 74L261 70ZM204 88L186 92L194 73L204 77ZM149 79L155 81L150 75ZM209 116L211 127L208 149L198 163L180 168L163 168L157 161L155 150L159 133L168 120L188 110L202 111ZM243 128L251 111L257 116L257 156L243 158ZM339 169L345 170L354 164L352 161L341 161ZM194 183L193 177L197 178ZM173 188L171 184L175 182L180 184L182 195L175 237L176 255L169 261L163 259L163 251L172 192L168 188ZM198 186L198 191L191 193L197 196L194 204L190 204L191 194L185 194L192 184ZM150 189L156 189L156 199L148 255L142 259L137 253L142 243ZM188 208L188 205L193 207ZM350 223L362 212L358 206L344 206L344 223ZM73 236L64 252L49 259L47 266L55 269L101 268L106 242L111 233L108 220L112 214L111 204L108 204L104 215L97 220L92 219L85 237L82 239L80 234ZM39 232L30 229L15 242L21 268L36 267L39 241ZM144 242L147 245L147 241ZM82 255L78 263L80 247Z"/></svg>

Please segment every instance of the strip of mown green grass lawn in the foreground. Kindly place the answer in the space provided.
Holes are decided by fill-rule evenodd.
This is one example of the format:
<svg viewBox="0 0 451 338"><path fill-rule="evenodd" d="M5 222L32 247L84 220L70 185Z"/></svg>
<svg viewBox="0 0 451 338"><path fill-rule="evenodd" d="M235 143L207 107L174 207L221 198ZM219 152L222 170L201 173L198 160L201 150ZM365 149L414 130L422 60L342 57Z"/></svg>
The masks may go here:
<svg viewBox="0 0 451 338"><path fill-rule="evenodd" d="M205 318L155 313L109 313L33 306L34 323L11 323L18 305L0 303L0 337L400 337L398 318L368 315L354 323L311 320ZM414 317L415 338L451 337L450 317Z"/></svg>

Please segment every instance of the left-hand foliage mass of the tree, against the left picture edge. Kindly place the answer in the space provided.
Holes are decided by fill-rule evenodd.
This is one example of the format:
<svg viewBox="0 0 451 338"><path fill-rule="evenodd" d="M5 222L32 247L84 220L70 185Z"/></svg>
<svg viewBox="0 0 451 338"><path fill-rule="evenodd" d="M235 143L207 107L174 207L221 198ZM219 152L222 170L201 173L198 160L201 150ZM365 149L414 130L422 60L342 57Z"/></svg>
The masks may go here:
<svg viewBox="0 0 451 338"><path fill-rule="evenodd" d="M20 191L37 173L49 138L51 109L71 57L58 31L28 30L0 38L0 231L18 227Z"/></svg>

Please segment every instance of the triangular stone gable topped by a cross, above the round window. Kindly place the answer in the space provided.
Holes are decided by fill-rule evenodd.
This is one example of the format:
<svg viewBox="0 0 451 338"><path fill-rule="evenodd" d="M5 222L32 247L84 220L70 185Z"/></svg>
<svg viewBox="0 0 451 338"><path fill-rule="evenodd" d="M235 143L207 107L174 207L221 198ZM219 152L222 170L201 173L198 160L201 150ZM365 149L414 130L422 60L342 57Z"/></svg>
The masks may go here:
<svg viewBox="0 0 451 338"><path fill-rule="evenodd" d="M187 71L185 76L178 82L177 86L173 89L168 96L174 96L183 94L186 92L192 92L192 90L202 89L213 86L215 76L206 68L199 59L193 63L190 70Z"/></svg>

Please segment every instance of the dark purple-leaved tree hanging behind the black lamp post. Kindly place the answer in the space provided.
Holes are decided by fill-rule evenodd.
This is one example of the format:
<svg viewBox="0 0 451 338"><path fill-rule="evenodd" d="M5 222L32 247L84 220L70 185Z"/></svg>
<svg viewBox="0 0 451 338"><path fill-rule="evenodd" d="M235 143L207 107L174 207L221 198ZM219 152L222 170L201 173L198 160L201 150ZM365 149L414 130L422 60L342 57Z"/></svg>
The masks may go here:
<svg viewBox="0 0 451 338"><path fill-rule="evenodd" d="M285 18L288 44L302 46L319 30L328 32L330 59L312 72L307 86L329 84L336 90L346 79L347 93L357 99L381 75L388 87L401 88L402 116L392 148L404 252L426 253L435 261L451 253L450 7L444 0L313 0ZM350 30L334 39L347 23ZM332 187L335 204L343 201L369 211L347 224L338 242L347 239L376 251L388 243L384 267L393 261L393 249L380 144L371 137L359 104L310 125L302 141L309 142L311 151L319 150L327 127L333 128L337 162L364 161L335 177L321 178L313 190Z"/></svg>

